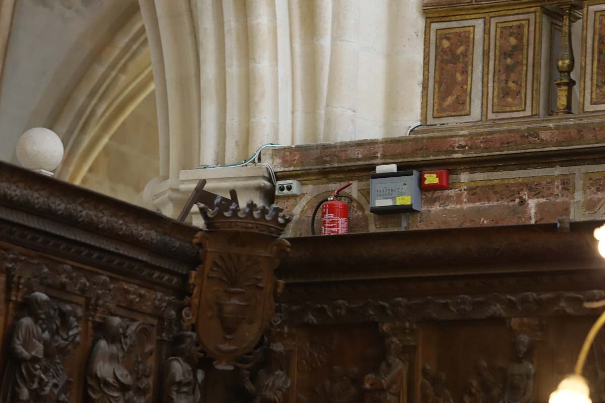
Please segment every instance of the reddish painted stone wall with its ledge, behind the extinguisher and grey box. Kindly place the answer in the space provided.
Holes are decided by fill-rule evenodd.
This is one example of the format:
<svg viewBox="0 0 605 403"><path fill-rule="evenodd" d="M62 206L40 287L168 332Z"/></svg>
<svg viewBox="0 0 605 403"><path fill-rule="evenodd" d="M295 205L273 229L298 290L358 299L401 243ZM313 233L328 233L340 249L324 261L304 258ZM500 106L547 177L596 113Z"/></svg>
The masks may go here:
<svg viewBox="0 0 605 403"><path fill-rule="evenodd" d="M289 235L299 236L310 234L315 205L347 181L353 233L598 219L605 214L604 143L602 118L561 117L422 127L410 137L284 147L266 158L278 180L301 181L301 196L275 200L295 214ZM369 177L378 164L448 169L450 189L423 192L420 213L371 214Z"/></svg>

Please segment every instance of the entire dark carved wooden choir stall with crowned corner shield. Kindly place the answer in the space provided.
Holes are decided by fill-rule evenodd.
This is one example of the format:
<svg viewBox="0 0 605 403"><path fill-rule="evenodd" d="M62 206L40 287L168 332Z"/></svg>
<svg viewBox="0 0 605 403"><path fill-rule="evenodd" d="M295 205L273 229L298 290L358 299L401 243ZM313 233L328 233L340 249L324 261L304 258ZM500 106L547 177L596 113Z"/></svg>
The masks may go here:
<svg viewBox="0 0 605 403"><path fill-rule="evenodd" d="M597 222L284 239L202 200L204 231L0 164L0 402L546 402L605 297Z"/></svg>

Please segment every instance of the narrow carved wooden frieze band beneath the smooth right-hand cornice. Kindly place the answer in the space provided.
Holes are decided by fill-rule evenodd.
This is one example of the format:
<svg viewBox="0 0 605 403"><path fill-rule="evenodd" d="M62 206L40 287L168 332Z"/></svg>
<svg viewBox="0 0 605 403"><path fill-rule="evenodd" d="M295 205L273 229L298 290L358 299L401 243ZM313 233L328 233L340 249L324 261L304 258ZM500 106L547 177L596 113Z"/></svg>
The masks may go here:
<svg viewBox="0 0 605 403"><path fill-rule="evenodd" d="M334 323L435 321L487 318L590 315L587 301L603 299L603 290L578 292L523 292L519 294L448 295L384 300L334 300L327 303L286 305L284 324L307 326Z"/></svg>

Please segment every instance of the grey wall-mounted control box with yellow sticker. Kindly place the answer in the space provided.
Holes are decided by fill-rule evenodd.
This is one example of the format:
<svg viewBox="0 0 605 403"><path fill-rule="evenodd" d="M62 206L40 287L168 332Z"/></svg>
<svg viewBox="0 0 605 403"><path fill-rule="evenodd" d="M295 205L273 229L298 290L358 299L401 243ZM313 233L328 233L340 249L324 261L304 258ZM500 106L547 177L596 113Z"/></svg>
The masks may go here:
<svg viewBox="0 0 605 403"><path fill-rule="evenodd" d="M420 211L420 172L398 171L370 175L370 213Z"/></svg>

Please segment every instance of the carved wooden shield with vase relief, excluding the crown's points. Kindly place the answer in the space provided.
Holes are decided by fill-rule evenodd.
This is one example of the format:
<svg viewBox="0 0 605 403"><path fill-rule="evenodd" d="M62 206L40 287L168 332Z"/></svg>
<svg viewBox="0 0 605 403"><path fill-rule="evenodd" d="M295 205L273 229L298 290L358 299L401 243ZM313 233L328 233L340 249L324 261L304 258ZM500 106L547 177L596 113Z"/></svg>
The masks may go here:
<svg viewBox="0 0 605 403"><path fill-rule="evenodd" d="M227 242L231 247L223 248L215 243L221 239L224 236L214 234L198 237L205 246L204 264L190 280L194 290L188 315L201 347L217 359L215 367L230 369L238 357L255 347L269 326L275 311L273 271L279 264L278 254L289 248L289 242L262 234L238 234L240 246Z"/></svg>

